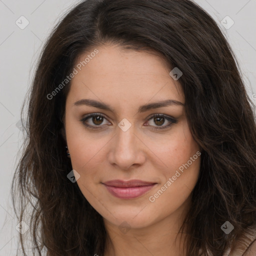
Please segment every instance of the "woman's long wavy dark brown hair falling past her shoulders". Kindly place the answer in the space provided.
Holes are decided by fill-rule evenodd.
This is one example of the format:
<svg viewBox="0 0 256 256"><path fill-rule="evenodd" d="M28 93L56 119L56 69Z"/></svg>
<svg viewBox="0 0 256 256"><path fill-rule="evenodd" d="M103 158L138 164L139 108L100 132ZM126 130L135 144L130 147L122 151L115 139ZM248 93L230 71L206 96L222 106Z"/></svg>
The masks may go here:
<svg viewBox="0 0 256 256"><path fill-rule="evenodd" d="M50 34L34 75L24 150L12 183L19 220L29 223L33 255L103 255L106 230L77 183L61 135L76 59L105 43L154 50L178 67L201 165L186 226L187 256L222 255L256 224L256 126L238 61L215 21L190 0L86 0ZM48 96L47 96L48 95ZM24 218L28 205L32 212ZM226 234L221 225L234 229ZM20 233L23 255L24 235Z"/></svg>

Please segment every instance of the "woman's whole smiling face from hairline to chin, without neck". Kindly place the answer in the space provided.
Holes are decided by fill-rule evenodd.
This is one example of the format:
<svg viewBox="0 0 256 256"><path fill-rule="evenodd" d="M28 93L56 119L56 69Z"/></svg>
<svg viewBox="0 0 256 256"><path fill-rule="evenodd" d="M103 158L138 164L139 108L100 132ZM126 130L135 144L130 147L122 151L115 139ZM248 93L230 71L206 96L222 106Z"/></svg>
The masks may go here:
<svg viewBox="0 0 256 256"><path fill-rule="evenodd" d="M97 49L76 68L65 105L76 182L105 221L150 226L189 204L199 146L180 84L159 55L117 45Z"/></svg>

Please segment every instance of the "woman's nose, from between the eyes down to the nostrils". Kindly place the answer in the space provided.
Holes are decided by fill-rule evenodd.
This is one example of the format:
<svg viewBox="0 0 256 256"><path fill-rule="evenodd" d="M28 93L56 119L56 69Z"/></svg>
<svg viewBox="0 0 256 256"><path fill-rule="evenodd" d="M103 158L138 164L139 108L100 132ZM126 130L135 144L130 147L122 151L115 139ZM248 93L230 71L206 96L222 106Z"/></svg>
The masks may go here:
<svg viewBox="0 0 256 256"><path fill-rule="evenodd" d="M145 162L145 145L138 135L134 133L133 125L123 131L117 127L112 138L111 150L108 155L109 162L119 169L127 170L131 166L139 166Z"/></svg>

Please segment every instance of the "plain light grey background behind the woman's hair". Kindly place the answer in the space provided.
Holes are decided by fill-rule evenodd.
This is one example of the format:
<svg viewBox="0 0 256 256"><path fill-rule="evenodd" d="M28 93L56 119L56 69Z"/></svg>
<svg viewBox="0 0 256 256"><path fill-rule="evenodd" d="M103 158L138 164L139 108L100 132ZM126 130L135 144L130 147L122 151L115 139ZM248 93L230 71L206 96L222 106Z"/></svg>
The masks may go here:
<svg viewBox="0 0 256 256"><path fill-rule="evenodd" d="M17 248L18 221L12 209L10 184L22 143L22 134L16 126L21 105L43 42L53 25L78 2L0 0L0 256L14 256ZM216 20L226 35L237 56L247 92L256 104L256 0L195 2ZM24 29L15 23L21 15L29 21ZM227 15L234 21L229 29L221 24Z"/></svg>

